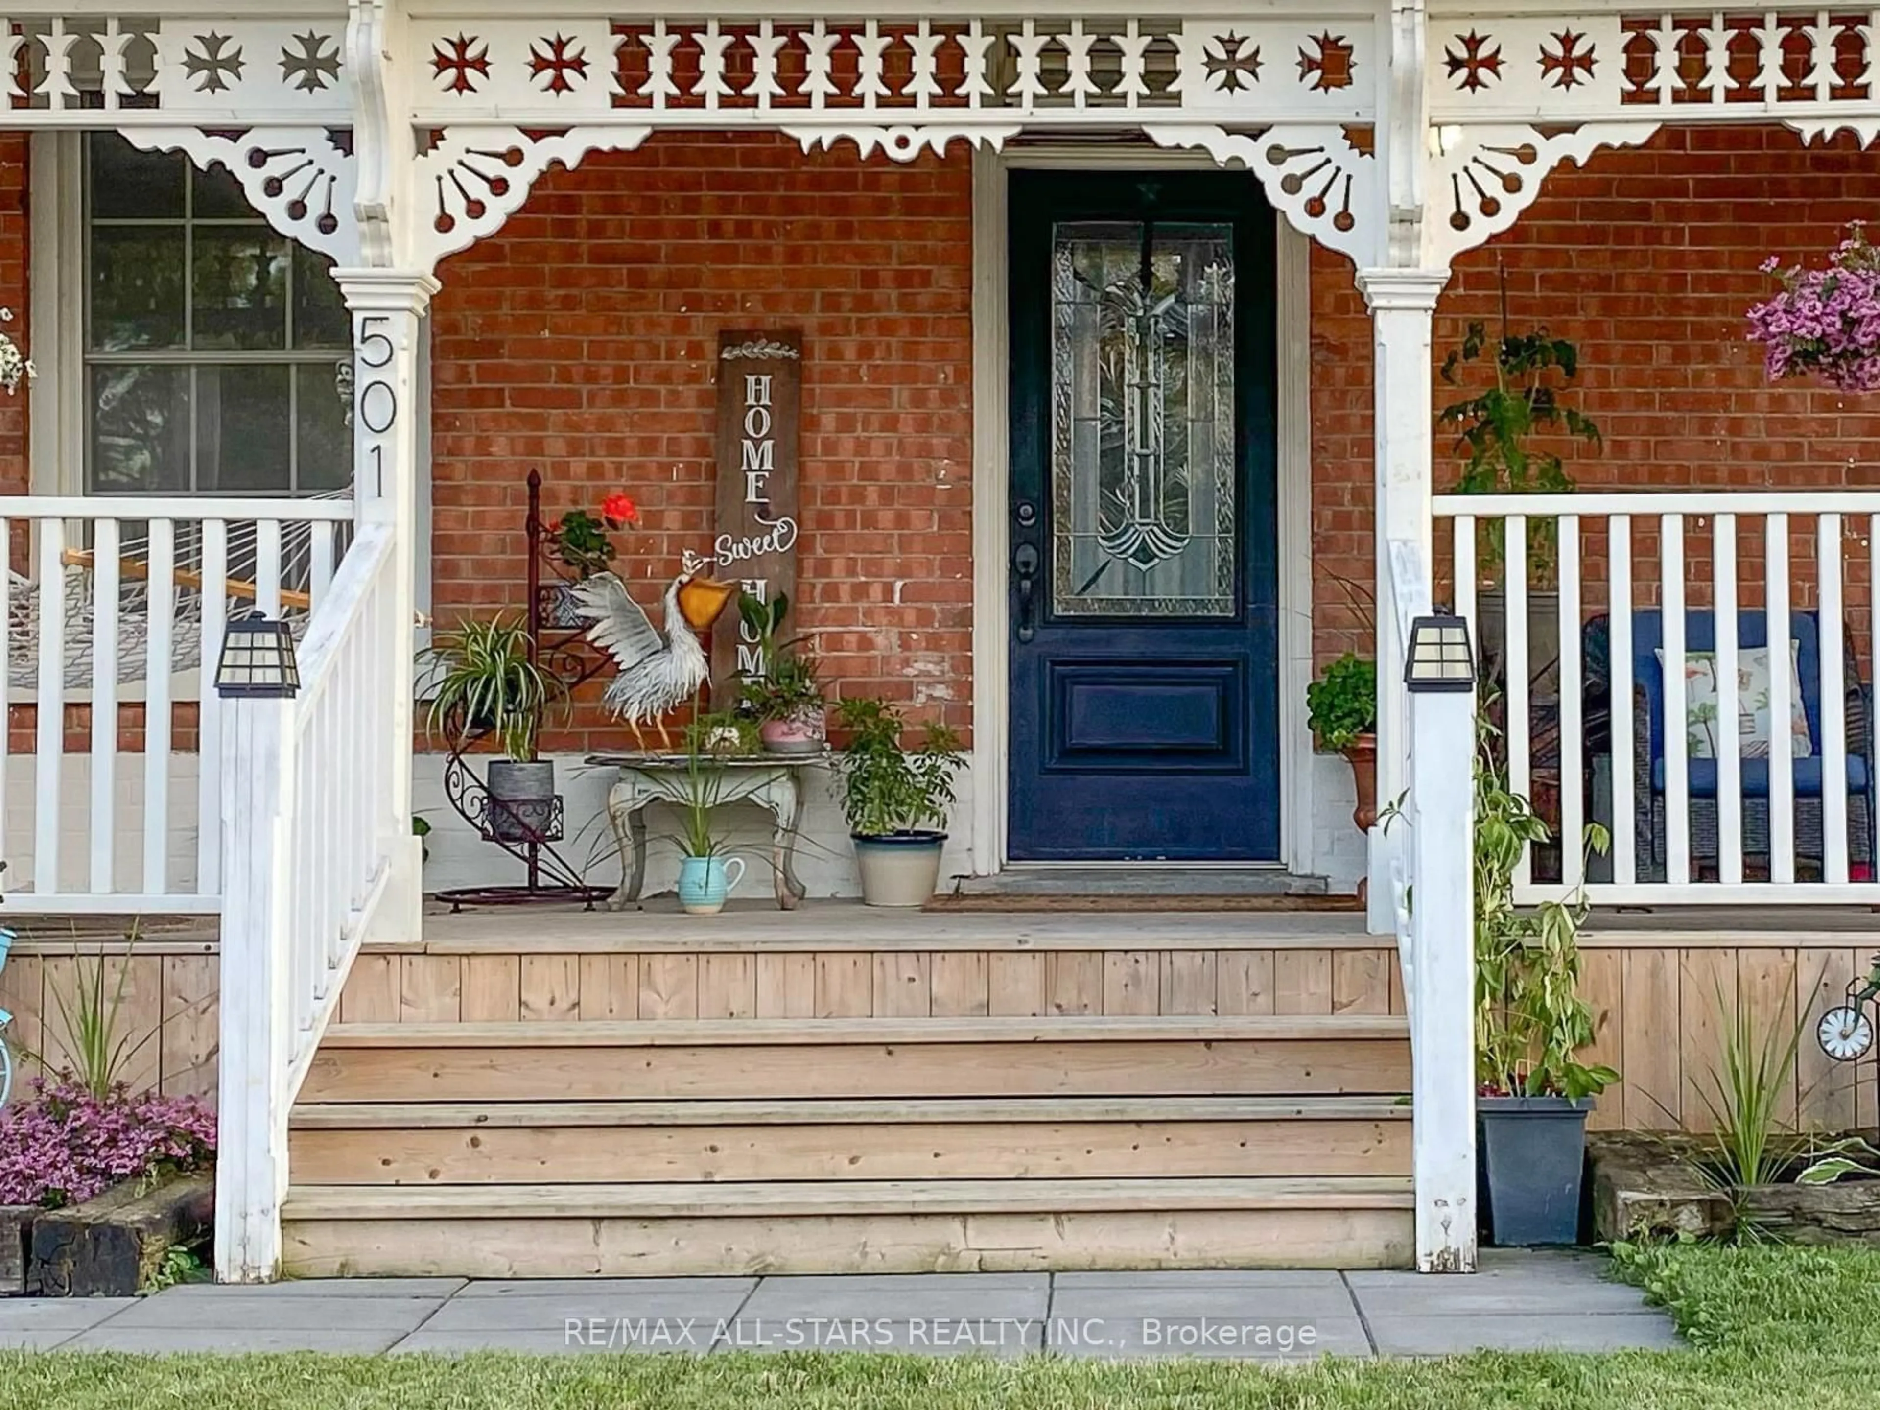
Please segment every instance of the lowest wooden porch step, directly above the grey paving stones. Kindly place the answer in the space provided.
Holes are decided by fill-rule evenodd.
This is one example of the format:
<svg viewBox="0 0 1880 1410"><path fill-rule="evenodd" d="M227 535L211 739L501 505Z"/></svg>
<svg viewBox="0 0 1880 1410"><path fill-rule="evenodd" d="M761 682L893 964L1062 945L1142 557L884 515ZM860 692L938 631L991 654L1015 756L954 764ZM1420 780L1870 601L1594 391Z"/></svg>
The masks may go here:
<svg viewBox="0 0 1880 1410"><path fill-rule="evenodd" d="M295 1277L1387 1267L1406 1177L297 1186Z"/></svg>

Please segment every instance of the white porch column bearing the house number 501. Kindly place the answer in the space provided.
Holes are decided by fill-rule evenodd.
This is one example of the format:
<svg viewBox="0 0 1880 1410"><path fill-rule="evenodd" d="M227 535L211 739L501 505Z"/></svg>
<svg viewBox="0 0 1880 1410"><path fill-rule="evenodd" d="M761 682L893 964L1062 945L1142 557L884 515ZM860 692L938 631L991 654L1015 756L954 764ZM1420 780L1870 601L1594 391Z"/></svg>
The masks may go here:
<svg viewBox="0 0 1880 1410"><path fill-rule="evenodd" d="M365 526L395 528L397 620L389 688L393 769L385 780L385 855L391 857L385 899L372 934L382 944L415 944L423 917L423 842L412 837L412 697L415 694L417 555L417 357L425 308L438 280L410 269L337 269L353 314L353 506Z"/></svg>

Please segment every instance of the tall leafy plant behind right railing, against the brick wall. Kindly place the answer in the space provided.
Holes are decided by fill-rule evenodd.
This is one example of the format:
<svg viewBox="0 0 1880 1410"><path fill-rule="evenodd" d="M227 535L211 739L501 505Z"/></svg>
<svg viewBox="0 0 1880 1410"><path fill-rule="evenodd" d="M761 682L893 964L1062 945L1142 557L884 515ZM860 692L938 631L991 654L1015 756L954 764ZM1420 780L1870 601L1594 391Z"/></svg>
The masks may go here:
<svg viewBox="0 0 1880 1410"><path fill-rule="evenodd" d="M1436 421L1455 432L1455 449L1463 457L1463 476L1457 494L1568 494L1574 479L1566 462L1551 446L1562 442L1600 444L1600 429L1577 408L1564 391L1579 374L1579 350L1566 338L1553 337L1545 327L1530 333L1512 333L1508 325L1508 276L1500 273L1500 327L1491 338L1485 323L1470 323L1463 342L1442 361L1442 380L1463 385L1465 367L1485 363L1493 380L1444 406ZM1536 447L1530 438L1543 438ZM1508 562L1502 523L1481 523L1476 545L1476 572L1481 590L1476 598L1476 622L1481 635L1481 656L1502 666L1508 652L1508 590L1502 570ZM1559 688L1560 662L1560 594L1559 594L1559 530L1553 519L1530 519L1527 525L1527 617L1528 617L1528 677L1538 694Z"/></svg>

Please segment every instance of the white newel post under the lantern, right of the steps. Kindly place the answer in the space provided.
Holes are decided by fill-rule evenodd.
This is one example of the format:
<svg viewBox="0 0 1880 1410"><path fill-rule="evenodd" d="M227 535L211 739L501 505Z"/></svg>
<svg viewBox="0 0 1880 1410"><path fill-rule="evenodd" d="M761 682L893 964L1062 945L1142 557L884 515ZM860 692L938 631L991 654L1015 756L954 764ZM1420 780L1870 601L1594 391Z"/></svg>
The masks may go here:
<svg viewBox="0 0 1880 1410"><path fill-rule="evenodd" d="M1410 694L1410 1085L1419 1273L1476 1271L1476 692Z"/></svg>

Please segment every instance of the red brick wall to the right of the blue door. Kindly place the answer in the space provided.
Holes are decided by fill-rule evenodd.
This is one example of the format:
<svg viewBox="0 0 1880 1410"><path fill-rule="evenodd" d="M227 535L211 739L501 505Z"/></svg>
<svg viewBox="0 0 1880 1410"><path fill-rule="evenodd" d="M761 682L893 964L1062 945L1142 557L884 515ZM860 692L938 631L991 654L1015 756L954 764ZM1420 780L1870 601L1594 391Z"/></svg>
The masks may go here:
<svg viewBox="0 0 1880 1410"><path fill-rule="evenodd" d="M1637 149L1602 150L1547 177L1519 224L1465 256L1436 310L1436 363L1468 320L1495 320L1496 259L1512 323L1545 323L1579 346L1581 408L1604 432L1574 451L1581 489L1872 489L1880 485L1880 393L1854 397L1769 385L1743 314L1773 282L1758 271L1820 261L1850 220L1880 211L1880 152L1848 137L1803 149L1784 128L1668 128ZM1340 256L1312 256L1312 538L1320 572L1320 660L1367 649L1369 635L1329 573L1371 581L1371 321ZM1436 384L1440 406L1451 389ZM1436 489L1459 461L1436 444ZM1795 575L1812 568L1797 525ZM1812 521L1807 523L1812 532ZM1850 526L1865 545L1867 525ZM1741 525L1745 568L1760 573L1760 521ZM1707 530L1694 532L1692 577L1707 583ZM1654 540L1639 547L1653 555ZM1598 543L1589 543L1589 579ZM1865 558L1865 551L1854 555ZM1654 572L1654 568L1653 568ZM1641 585L1641 600L1651 596ZM1865 572L1850 572L1865 632ZM1592 585L1592 592L1598 587ZM1692 596L1707 603L1703 588Z"/></svg>

